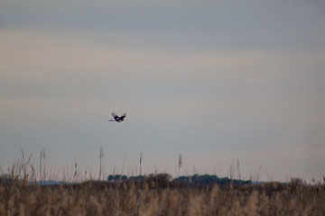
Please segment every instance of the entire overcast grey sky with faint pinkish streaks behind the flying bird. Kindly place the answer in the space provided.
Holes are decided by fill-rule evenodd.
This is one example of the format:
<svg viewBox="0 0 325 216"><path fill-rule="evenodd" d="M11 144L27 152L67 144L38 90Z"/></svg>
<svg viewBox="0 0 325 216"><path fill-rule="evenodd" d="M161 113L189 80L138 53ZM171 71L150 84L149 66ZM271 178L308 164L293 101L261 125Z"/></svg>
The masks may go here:
<svg viewBox="0 0 325 216"><path fill-rule="evenodd" d="M0 171L325 175L324 1L0 2ZM126 112L110 122L111 112ZM179 167L179 157L182 164ZM239 171L237 169L239 163ZM87 174L86 174L86 172Z"/></svg>

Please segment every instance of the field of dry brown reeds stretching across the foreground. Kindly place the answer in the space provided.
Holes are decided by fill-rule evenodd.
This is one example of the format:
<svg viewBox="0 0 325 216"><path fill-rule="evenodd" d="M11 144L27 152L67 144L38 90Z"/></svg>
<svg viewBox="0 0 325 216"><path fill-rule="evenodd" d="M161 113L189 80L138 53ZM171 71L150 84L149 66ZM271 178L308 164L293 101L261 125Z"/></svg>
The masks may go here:
<svg viewBox="0 0 325 216"><path fill-rule="evenodd" d="M325 215L324 184L0 184L0 215Z"/></svg>

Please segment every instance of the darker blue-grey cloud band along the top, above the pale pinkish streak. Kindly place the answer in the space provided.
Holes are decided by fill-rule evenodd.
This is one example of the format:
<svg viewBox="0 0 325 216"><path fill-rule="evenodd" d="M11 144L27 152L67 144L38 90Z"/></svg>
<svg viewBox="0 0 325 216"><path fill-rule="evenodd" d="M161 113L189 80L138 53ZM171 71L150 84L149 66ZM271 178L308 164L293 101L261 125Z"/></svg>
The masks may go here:
<svg viewBox="0 0 325 216"><path fill-rule="evenodd" d="M321 8L296 1L5 2L0 27L135 33L152 47L317 49L324 47Z"/></svg>

